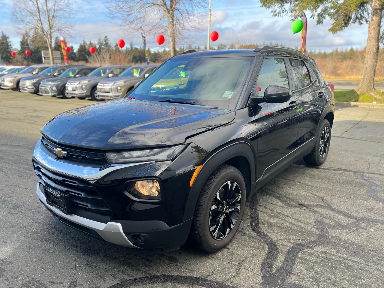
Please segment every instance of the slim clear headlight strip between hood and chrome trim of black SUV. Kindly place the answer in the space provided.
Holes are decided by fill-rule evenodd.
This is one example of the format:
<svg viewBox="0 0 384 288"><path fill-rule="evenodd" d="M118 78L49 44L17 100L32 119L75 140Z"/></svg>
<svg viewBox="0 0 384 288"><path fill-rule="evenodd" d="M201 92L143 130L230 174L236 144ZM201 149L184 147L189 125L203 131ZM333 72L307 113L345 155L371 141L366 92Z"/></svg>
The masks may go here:
<svg viewBox="0 0 384 288"><path fill-rule="evenodd" d="M107 153L109 163L131 163L139 161L166 161L177 156L185 145L179 145L169 148L136 150L126 152Z"/></svg>

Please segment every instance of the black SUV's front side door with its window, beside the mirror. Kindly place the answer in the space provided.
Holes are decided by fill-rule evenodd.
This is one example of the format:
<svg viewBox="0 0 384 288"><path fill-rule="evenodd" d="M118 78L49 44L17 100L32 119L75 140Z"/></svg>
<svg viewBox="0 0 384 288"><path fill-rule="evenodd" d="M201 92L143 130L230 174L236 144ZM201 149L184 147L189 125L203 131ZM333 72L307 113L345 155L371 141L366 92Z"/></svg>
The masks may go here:
<svg viewBox="0 0 384 288"><path fill-rule="evenodd" d="M260 96L269 85L292 88L287 67L285 57L264 58L255 84ZM285 103L259 104L258 114L255 116L258 130L256 161L257 179L264 179L262 182L277 174L275 172L281 167L293 162L299 124L297 104L296 96Z"/></svg>

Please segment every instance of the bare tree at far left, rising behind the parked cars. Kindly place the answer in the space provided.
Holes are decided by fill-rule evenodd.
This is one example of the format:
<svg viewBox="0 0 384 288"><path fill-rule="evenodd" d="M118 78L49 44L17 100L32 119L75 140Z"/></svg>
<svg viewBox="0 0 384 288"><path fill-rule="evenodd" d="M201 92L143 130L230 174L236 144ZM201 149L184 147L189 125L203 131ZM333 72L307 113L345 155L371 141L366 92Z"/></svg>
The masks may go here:
<svg viewBox="0 0 384 288"><path fill-rule="evenodd" d="M13 20L20 31L40 31L48 45L53 64L52 37L71 28L68 15L71 12L69 0L17 0L13 4Z"/></svg>

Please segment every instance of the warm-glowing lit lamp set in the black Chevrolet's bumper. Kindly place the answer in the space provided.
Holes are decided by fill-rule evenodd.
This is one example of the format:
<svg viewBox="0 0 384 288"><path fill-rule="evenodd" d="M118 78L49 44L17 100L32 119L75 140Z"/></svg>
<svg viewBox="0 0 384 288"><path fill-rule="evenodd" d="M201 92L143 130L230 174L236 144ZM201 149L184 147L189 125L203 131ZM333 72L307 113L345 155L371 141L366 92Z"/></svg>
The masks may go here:
<svg viewBox="0 0 384 288"><path fill-rule="evenodd" d="M157 180L140 180L128 185L127 191L140 199L160 200L160 184Z"/></svg>

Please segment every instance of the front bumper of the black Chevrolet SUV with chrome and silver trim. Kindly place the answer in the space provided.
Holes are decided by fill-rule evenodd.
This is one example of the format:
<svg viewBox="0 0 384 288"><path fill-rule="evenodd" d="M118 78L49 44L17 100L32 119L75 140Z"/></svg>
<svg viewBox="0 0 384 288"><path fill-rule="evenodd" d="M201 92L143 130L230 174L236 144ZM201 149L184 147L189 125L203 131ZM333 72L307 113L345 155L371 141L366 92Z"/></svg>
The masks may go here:
<svg viewBox="0 0 384 288"><path fill-rule="evenodd" d="M190 190L189 180L194 171L194 163L199 162L195 152L201 157L204 151L197 146L187 147L184 159L165 162L140 162L129 164L109 165L104 167L89 167L89 165L74 165L65 160L55 159L48 155L45 146L39 141L33 153L34 166L37 163L44 175L38 175L39 183L36 194L45 207L61 222L102 238L108 242L132 248L160 248L173 250L183 245L189 235L192 218L184 219L185 201ZM183 158L183 157L180 157ZM191 162L185 167L185 159ZM37 174L37 172L36 172ZM50 176L51 175L51 176ZM44 185L58 189L58 182L48 179L63 177L69 180L81 179L87 181L98 195L108 204L111 216L106 221L91 219L90 212L70 212L64 214L46 202ZM43 178L42 178L42 177ZM128 198L122 191L124 183L130 179L157 177L162 181L161 203L139 203ZM47 178L48 177L48 178ZM41 183L41 179L45 183ZM51 186L54 185L54 186ZM60 183L59 183L60 185ZM62 184L61 184L62 185ZM80 185L80 184L78 184ZM84 184L83 184L84 185ZM61 190L62 191L62 190ZM76 192L76 191L74 191ZM79 195L79 194L78 194ZM85 203L86 204L86 203ZM103 222L104 221L104 222ZM92 233L89 233L91 231ZM138 242L137 237L144 237L144 242Z"/></svg>

